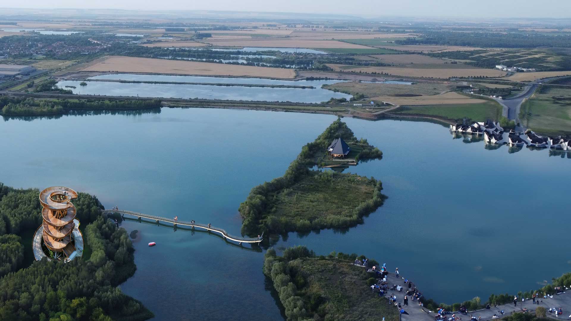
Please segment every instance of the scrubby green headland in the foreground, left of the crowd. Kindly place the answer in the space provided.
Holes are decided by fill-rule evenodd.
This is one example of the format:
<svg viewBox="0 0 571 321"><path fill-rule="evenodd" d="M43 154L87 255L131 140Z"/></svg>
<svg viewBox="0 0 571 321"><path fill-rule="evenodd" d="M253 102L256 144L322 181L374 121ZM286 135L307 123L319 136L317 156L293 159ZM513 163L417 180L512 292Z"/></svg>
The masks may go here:
<svg viewBox="0 0 571 321"><path fill-rule="evenodd" d="M353 264L365 256L332 252L316 256L305 246L286 248L282 256L270 248L264 274L278 292L288 321L399 320L399 311L385 296L369 294L374 273ZM377 265L369 259L368 265Z"/></svg>

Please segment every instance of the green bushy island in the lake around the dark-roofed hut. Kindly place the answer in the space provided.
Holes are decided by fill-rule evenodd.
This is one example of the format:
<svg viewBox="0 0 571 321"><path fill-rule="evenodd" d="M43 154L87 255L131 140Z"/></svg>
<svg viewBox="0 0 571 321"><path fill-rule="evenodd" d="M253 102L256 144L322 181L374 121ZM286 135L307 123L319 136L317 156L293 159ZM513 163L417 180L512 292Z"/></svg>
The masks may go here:
<svg viewBox="0 0 571 321"><path fill-rule="evenodd" d="M332 160L327 151L337 138L351 148L341 162ZM375 178L310 168L382 157L379 149L367 139L357 139L347 124L337 119L315 141L303 146L282 177L252 188L239 207L244 219L242 234L307 232L363 222L363 216L383 204L383 184Z"/></svg>

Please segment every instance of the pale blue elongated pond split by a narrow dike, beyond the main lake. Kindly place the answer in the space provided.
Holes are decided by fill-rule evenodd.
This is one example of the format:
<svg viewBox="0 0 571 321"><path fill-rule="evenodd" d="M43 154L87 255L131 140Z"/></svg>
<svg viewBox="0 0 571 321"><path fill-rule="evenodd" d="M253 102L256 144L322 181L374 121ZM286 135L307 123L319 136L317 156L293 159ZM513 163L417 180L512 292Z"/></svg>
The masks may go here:
<svg viewBox="0 0 571 321"><path fill-rule="evenodd" d="M341 82L339 80L287 81L264 78L231 78L231 77L200 77L172 75L137 75L109 74L91 77L91 79L120 79L132 81L169 81L169 82L202 82L202 83L240 83L262 85L295 85L313 86L314 89L300 88L270 88L242 87L215 85L187 85L172 83L118 83L118 82L89 82L87 86L79 86L80 81L60 81L58 86L75 86L71 88L75 94L86 95L119 95L163 98L203 98L230 99L252 101L291 101L303 103L320 103L330 98L349 99L352 96L344 93L322 89L321 85Z"/></svg>

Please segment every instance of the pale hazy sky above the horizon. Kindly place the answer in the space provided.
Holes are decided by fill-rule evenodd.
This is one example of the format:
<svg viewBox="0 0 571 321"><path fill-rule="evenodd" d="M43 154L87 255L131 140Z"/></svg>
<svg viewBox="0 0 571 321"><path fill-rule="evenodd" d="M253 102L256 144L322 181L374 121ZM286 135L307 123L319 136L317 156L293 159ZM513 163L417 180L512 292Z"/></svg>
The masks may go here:
<svg viewBox="0 0 571 321"><path fill-rule="evenodd" d="M271 11L367 17L571 17L571 0L27 0L5 1L0 7Z"/></svg>

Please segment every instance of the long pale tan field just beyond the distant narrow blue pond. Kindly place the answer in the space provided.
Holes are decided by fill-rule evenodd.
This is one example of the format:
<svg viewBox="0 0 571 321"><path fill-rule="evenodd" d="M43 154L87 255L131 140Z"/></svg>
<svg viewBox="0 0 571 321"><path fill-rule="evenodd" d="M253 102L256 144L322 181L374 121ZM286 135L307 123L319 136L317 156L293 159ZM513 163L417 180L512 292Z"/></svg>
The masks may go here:
<svg viewBox="0 0 571 321"><path fill-rule="evenodd" d="M207 43L214 46L243 46L243 47L282 47L282 48L348 48L348 49L372 49L371 47L353 45L353 43L327 40L298 40L295 38L285 39L234 39L234 40L211 40Z"/></svg>

